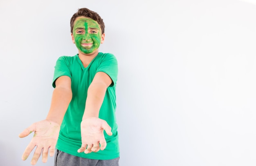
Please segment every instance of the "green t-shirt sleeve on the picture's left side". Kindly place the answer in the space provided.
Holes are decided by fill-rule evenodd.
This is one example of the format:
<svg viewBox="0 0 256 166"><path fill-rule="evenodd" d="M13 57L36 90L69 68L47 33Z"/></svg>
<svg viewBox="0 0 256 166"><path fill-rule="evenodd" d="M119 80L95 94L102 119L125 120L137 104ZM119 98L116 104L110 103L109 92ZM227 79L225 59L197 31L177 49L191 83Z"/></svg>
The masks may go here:
<svg viewBox="0 0 256 166"><path fill-rule="evenodd" d="M57 78L63 75L66 75L70 78L72 77L70 73L70 57L67 56L61 56L56 61L56 65L54 67L54 77L52 82L52 86L54 88L56 87L55 81L57 80Z"/></svg>

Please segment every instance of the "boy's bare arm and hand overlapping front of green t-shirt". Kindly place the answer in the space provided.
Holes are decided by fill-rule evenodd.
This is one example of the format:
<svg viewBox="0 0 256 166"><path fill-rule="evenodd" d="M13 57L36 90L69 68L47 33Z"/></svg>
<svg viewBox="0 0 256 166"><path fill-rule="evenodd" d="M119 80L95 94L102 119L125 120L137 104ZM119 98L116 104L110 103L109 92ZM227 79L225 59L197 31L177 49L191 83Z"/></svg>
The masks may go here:
<svg viewBox="0 0 256 166"><path fill-rule="evenodd" d="M112 79L104 72L97 72L87 92L85 111L81 122L82 145L78 152L91 153L104 150L106 139L103 131L112 135L111 127L105 120L99 119L99 110L103 103L106 90Z"/></svg>

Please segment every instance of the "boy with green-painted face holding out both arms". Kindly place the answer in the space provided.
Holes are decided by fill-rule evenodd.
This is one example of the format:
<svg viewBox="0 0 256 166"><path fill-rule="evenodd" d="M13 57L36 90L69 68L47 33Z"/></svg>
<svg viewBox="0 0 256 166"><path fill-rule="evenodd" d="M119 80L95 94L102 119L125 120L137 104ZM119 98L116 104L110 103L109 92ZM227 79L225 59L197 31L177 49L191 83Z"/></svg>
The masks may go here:
<svg viewBox="0 0 256 166"><path fill-rule="evenodd" d="M70 19L75 56L58 58L54 70L52 102L45 120L26 128L33 131L25 149L27 159L36 146L31 164L53 156L54 166L119 166L119 143L115 117L117 60L99 52L104 42L104 22L94 11L78 9ZM108 143L108 145L107 145Z"/></svg>

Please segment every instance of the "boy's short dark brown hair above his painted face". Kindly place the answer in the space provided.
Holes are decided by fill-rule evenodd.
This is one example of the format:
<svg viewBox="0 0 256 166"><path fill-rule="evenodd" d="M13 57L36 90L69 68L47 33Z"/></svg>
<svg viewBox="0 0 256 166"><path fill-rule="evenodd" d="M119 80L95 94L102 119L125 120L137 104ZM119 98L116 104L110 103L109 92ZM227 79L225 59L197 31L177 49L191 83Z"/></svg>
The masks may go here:
<svg viewBox="0 0 256 166"><path fill-rule="evenodd" d="M71 28L71 33L73 33L73 28L74 28L74 22L76 20L77 17L80 16L84 16L87 18L91 18L92 20L95 20L98 22L98 24L101 27L101 34L104 33L104 29L105 29L105 24L103 22L103 19L101 18L101 16L99 16L98 13L91 11L87 8L81 8L78 9L78 11L76 13L74 13L74 15L72 16L72 18L70 19L70 28Z"/></svg>

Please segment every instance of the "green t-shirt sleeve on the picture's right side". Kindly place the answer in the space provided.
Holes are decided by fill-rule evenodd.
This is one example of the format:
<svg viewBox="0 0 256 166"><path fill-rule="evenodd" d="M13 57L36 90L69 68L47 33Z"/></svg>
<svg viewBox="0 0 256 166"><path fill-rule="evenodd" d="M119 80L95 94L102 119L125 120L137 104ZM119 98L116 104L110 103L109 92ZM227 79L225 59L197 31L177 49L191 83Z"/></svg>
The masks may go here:
<svg viewBox="0 0 256 166"><path fill-rule="evenodd" d="M100 71L110 76L113 81L110 86L114 86L116 84L118 75L118 64L115 55L108 53L106 54L106 56L104 56L99 68L97 69L97 72Z"/></svg>

